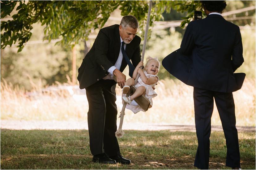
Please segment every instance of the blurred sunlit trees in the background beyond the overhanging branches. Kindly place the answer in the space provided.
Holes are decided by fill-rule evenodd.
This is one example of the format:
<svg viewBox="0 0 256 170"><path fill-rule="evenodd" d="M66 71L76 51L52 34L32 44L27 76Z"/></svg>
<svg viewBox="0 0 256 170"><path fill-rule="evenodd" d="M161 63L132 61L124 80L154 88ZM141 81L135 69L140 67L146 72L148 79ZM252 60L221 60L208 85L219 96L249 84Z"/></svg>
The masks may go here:
<svg viewBox="0 0 256 170"><path fill-rule="evenodd" d="M108 2L110 2L110 4L100 3L100 1L94 1L94 2L88 1L86 3L91 4L91 6L93 6L92 5L93 3L95 4L98 3L98 5L100 6L101 5L109 6L112 4L112 2L118 3L119 6L117 6L115 10L112 9L114 11L112 13L109 13L112 10L109 10L107 7L105 7L104 15L107 18L109 18L110 15L112 17L118 17L118 18L121 18L122 15L126 15L126 14L135 15L138 19L140 19L139 22L141 27L139 29L139 36L143 38L144 37L143 29L144 29L144 26L146 25L148 1L108 1ZM168 27L166 29L159 30L159 29L155 29L154 27L153 29L152 26L155 25L156 22L154 23L152 22L157 20L163 20L163 21L181 20L181 18L183 17L187 17L189 15L191 16L191 14L194 13L194 10L192 10L192 12L188 12L189 7L192 6L193 8L196 8L195 10L200 10L201 8L197 4L198 1L196 1L197 5L194 5L193 2L194 1L174 1L174 2L153 1L153 6L151 10L151 27L150 27L151 34L148 35L148 41L147 41L147 47L146 47L146 53L145 53L146 56L150 55L151 57L158 57L158 59L161 62L166 55L168 55L170 52L179 48L182 36L185 32L185 28L182 29L181 27L175 27L175 28ZM9 7L8 5L3 5L3 3L7 3L7 4L9 3ZM16 3L16 6L14 7L11 6L11 3ZM22 27L22 31L19 30L18 32L17 31L15 32L16 27L10 27L10 26L11 25L15 26L15 24L17 25L18 23L21 23L21 25L25 22L29 23L28 21L31 21L32 19L31 17L30 19L28 19L28 21L26 18L23 18L20 21L17 19L16 20L9 19L10 21L6 22L6 18L10 18L10 16L15 16L15 14L22 16L22 14L19 13L19 11L22 8L20 9L18 8L18 6L20 6L20 3L22 4L22 8L24 4L25 4L24 6L32 6L31 4L29 5L29 3L32 3L34 5L37 4L36 5L37 9L39 9L38 7L40 6L39 4L41 3L43 4L44 2L43 1L39 1L39 2L37 1L25 1L25 2L24 1L21 1L21 2L3 1L2 2L1 1L1 18L5 18L5 21L3 22L1 21L4 24L1 25L1 29L2 29L1 48L2 49L1 49L1 67L0 68L1 68L1 78L6 79L7 82L10 82L14 85L25 87L27 90L30 90L32 88L32 84L30 83L30 81L28 81L28 75L30 76L30 79L32 80L32 82L36 84L41 82L42 86L51 85L56 81L60 83L67 82L66 75L68 75L69 77L72 76L71 45L74 46L74 44L76 44L75 45L76 54L77 54L76 63L78 68L82 62L82 59L87 54L88 50L92 46L92 43L94 42L93 38L88 39L88 35L89 34L96 35L99 29L102 27L101 26L102 23L105 23L105 26L108 26L112 24L119 24L120 22L120 21L114 21L114 20L108 19L107 22L104 21L104 22L101 22L101 24L99 24L98 22L100 21L99 18L106 18L106 17L103 17L103 15L100 14L100 11L99 11L99 15L97 16L98 19L94 19L93 22L90 22L88 20L88 23L86 23L86 26L88 26L89 30L86 30L85 27L83 27L83 29L82 28L80 29L81 26L75 27L73 30L70 30L70 26L68 26L68 23L69 25L71 25L72 21L75 22L75 18L79 15L81 19L84 19L83 16L81 15L82 11L80 11L80 14L79 13L77 14L76 12L74 12L74 10L70 9L71 6L79 6L79 4L80 6L82 6L82 4L84 4L85 2L83 1L68 2L67 10L64 10L64 11L66 11L66 13L67 11L73 11L73 12L70 12L70 14L67 14L67 16L63 17L65 19L64 20L62 19L63 20L62 22L63 24L66 24L65 25L66 27L64 27L64 26L58 25L62 22L58 21L59 18L57 16L61 16L61 15L59 14L60 12L56 12L56 11L59 10L58 6L60 6L60 4L63 5L67 2L66 1L63 1L63 2L62 1L57 1L57 2L46 1L45 2L46 9L44 9L43 11L45 13L46 11L51 10L51 13L47 13L47 15L45 14L46 16L43 15L42 22L44 23L46 18L48 18L49 21L48 20L47 22L45 21L44 25L42 25L42 22L40 21L40 17L37 20L37 22L36 20L34 20L35 23L30 24L30 26L32 27L32 29L29 30L30 33L27 33L27 34L31 34L29 40L26 41L29 43L27 45L25 45L26 43L25 44L23 43L22 45L25 47L21 52L17 53L16 45L14 46L12 44L12 47L8 45L8 43L14 43L14 41L12 42L10 41L11 38L9 37L9 34L11 33L11 36L14 36L12 37L12 39L14 40L15 35L16 37L18 35L19 36L26 35L24 31L26 30L26 27L24 29ZM55 7L53 7L54 3L57 3L55 4ZM144 7L141 7L141 6L144 6ZM227 1L227 7L224 10L224 12L241 9L248 6L255 6L255 1ZM16 10L16 9L19 9L19 10ZM87 6L87 9L89 10L91 8ZM103 9L103 8L100 8L100 9ZM106 12L107 10L109 12ZM9 11L9 12L6 13L6 11ZM190 11L191 11L191 8L190 8ZM84 17L89 15L89 13L92 13L92 15L94 14L92 10L90 12L88 11L87 13L88 14L84 14ZM34 16L34 13L30 15ZM72 15L72 17L70 17L70 15ZM235 15L232 14L224 18L232 19L232 18L243 17L247 15L249 17L248 19L235 19L235 20L228 20L228 21L233 22L239 26L245 26L245 25L255 26L255 10L251 10L251 11L247 11L247 12L243 12ZM67 18L69 18L69 20L67 20ZM184 20L185 24L186 24L186 20L189 21L191 19L192 18L185 19ZM53 22L54 20L56 21ZM65 22L66 20L67 22ZM52 23L53 25L51 26ZM55 26L55 23L57 24L57 26ZM8 28L8 24L9 24L9 28ZM94 25L96 24L98 28L90 24L94 24ZM7 31L5 30L5 26ZM238 69L238 71L245 72L247 75L246 76L247 78L248 77L255 78L255 30L251 29L250 26L248 26L248 29L247 28L241 29L243 46L244 46L245 63L242 65L242 67ZM67 30L70 30L70 31L67 31ZM64 35L63 33L65 31L67 31L67 33ZM82 33L83 33L83 37L82 37ZM5 36L7 36L8 39L3 38L3 34L5 34ZM53 37L55 35L56 37ZM79 37L80 37L80 40L79 40ZM3 46L2 38L5 40L5 43L7 43L6 47ZM54 46L53 44L54 42L56 42L55 40L51 41L50 43L30 44L30 42L34 42L36 40L42 40L43 38L49 39L49 40L52 40L55 38L62 39L59 42L59 44L63 44L63 45ZM78 41L75 42L75 40L78 40ZM19 44L20 46L22 42L22 38L20 40L18 38L16 39L16 41L20 43ZM20 49L19 46L18 48ZM141 49L142 49L142 46L143 45L141 44ZM127 69L125 71L127 71ZM128 74L128 73L125 73L125 74ZM169 79L169 78L175 79L162 67L160 69L158 76L160 77L160 79ZM1 82L2 82L2 79L1 79Z"/></svg>

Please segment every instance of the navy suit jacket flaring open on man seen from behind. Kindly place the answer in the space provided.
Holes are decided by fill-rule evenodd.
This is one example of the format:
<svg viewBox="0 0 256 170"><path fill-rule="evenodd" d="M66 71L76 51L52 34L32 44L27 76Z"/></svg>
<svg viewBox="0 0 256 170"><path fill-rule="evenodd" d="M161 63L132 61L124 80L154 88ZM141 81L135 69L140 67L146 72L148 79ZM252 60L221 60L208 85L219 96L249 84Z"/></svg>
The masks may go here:
<svg viewBox="0 0 256 170"><path fill-rule="evenodd" d="M171 74L190 86L232 92L241 88L245 77L244 73L233 73L244 62L242 53L239 27L221 15L211 14L190 22L181 48L162 63Z"/></svg>

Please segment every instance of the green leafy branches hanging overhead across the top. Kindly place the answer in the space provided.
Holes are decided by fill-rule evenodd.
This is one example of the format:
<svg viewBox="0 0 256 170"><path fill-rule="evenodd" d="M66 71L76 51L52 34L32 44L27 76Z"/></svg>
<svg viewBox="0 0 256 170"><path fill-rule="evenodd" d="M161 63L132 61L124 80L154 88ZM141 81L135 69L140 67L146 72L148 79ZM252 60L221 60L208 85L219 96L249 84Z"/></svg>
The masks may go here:
<svg viewBox="0 0 256 170"><path fill-rule="evenodd" d="M150 25L163 19L164 11L171 8L187 11L181 26L193 17L194 10L200 9L199 1L153 1ZM1 1L1 18L17 11L13 20L1 22L1 49L19 42L20 52L30 39L32 24L45 25L45 38L62 38L63 46L74 46L81 39L88 38L91 30L101 28L113 10L119 8L122 15L132 14L139 20L141 30L145 30L148 1ZM141 34L144 34L142 31ZM142 36L143 37L143 36Z"/></svg>

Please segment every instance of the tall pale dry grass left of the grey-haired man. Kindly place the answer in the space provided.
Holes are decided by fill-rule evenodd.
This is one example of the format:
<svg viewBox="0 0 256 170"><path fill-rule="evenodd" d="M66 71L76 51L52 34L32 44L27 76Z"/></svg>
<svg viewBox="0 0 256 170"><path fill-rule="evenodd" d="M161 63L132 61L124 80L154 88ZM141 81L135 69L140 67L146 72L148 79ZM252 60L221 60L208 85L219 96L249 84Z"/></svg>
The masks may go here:
<svg viewBox="0 0 256 170"><path fill-rule="evenodd" d="M76 101L67 91L40 92L40 84L33 85L36 95L29 97L24 89L1 82L1 119L22 120L78 120L87 117L86 99Z"/></svg>

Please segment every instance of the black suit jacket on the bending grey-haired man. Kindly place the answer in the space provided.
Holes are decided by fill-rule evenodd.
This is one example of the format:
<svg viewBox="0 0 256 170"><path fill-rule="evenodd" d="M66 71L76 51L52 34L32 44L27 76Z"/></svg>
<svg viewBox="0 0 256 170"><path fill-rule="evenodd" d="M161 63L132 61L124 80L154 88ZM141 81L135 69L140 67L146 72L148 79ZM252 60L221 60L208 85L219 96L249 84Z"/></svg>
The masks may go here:
<svg viewBox="0 0 256 170"><path fill-rule="evenodd" d="M126 54L134 67L138 65L141 59L140 41L140 37L136 35L129 44L126 44ZM89 87L109 74L108 69L116 63L120 47L119 25L100 29L91 50L78 69L77 79L80 89ZM122 72L126 66L127 63L123 59L120 71Z"/></svg>

